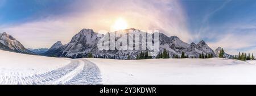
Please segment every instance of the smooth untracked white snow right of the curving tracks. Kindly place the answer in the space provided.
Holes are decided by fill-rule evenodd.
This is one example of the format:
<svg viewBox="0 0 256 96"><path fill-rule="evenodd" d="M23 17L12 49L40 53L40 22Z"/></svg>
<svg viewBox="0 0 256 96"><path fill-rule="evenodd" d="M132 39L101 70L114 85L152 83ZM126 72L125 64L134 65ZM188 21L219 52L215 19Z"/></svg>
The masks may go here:
<svg viewBox="0 0 256 96"><path fill-rule="evenodd" d="M256 65L230 59L86 59L103 84L256 84Z"/></svg>

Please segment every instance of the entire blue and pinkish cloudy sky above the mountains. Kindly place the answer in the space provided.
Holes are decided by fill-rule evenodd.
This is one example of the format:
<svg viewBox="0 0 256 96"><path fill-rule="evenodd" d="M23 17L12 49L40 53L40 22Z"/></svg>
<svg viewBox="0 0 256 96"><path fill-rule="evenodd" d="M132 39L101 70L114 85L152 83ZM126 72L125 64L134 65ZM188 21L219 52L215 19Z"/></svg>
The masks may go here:
<svg viewBox="0 0 256 96"><path fill-rule="evenodd" d="M82 28L110 30L116 19L129 28L204 40L230 54L256 53L256 1L252 0L0 0L0 32L26 48L68 43Z"/></svg>

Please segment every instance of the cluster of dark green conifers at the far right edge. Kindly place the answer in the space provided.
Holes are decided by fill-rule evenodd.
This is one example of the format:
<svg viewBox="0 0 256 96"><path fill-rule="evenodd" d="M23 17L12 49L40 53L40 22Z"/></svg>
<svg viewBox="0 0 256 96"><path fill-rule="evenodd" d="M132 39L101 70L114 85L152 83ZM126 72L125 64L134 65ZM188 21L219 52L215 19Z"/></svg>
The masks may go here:
<svg viewBox="0 0 256 96"><path fill-rule="evenodd" d="M243 53L242 54L239 52L238 55L235 55L233 57L233 59L236 59L236 60L242 60L242 61L246 61L246 60L254 60L254 56L253 56L253 53L252 55L250 55L250 53L248 53L248 55L246 53Z"/></svg>

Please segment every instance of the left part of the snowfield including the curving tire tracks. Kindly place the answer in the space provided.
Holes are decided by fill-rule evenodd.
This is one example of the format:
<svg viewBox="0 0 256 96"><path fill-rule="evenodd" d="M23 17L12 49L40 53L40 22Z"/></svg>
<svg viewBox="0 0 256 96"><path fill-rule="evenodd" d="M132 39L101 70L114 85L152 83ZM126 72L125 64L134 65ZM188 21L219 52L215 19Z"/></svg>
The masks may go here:
<svg viewBox="0 0 256 96"><path fill-rule="evenodd" d="M100 84L97 66L71 60L0 51L0 84Z"/></svg>

